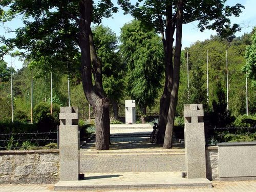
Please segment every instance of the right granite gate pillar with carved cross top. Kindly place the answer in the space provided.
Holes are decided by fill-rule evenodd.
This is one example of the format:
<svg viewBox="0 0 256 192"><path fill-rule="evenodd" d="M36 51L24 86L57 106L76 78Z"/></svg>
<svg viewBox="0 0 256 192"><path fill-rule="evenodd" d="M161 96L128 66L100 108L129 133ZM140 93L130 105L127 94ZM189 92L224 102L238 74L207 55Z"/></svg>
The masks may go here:
<svg viewBox="0 0 256 192"><path fill-rule="evenodd" d="M187 178L206 178L204 111L202 104L185 104L185 159Z"/></svg>

